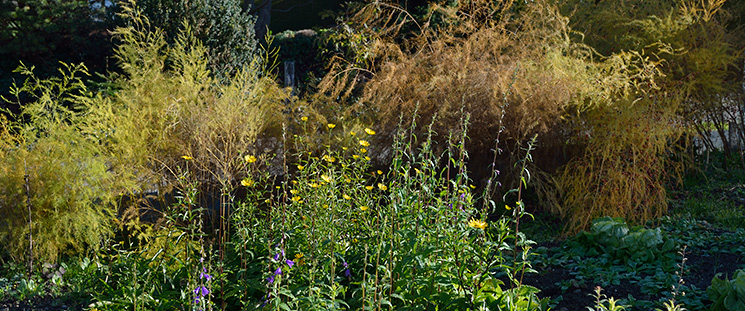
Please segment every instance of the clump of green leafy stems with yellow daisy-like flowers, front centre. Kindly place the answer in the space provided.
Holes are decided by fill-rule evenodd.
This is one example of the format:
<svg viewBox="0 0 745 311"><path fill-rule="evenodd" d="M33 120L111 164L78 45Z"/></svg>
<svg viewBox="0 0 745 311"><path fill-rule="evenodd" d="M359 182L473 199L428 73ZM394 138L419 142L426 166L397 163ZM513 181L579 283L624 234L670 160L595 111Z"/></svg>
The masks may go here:
<svg viewBox="0 0 745 311"><path fill-rule="evenodd" d="M375 131L334 124L324 131L329 141L352 137L352 144L308 153L302 149L307 137L299 136L296 174L278 192L245 183L258 192L234 214L241 268L231 291L254 293L245 307L547 307L537 289L519 282L523 271L531 271L531 242L513 235L507 219L487 222L487 210L476 207L461 162L463 134L443 155L457 171L448 176L434 166L443 159L431 136L419 145L407 139L408 130L399 132L393 164L382 172L367 157Z"/></svg>

